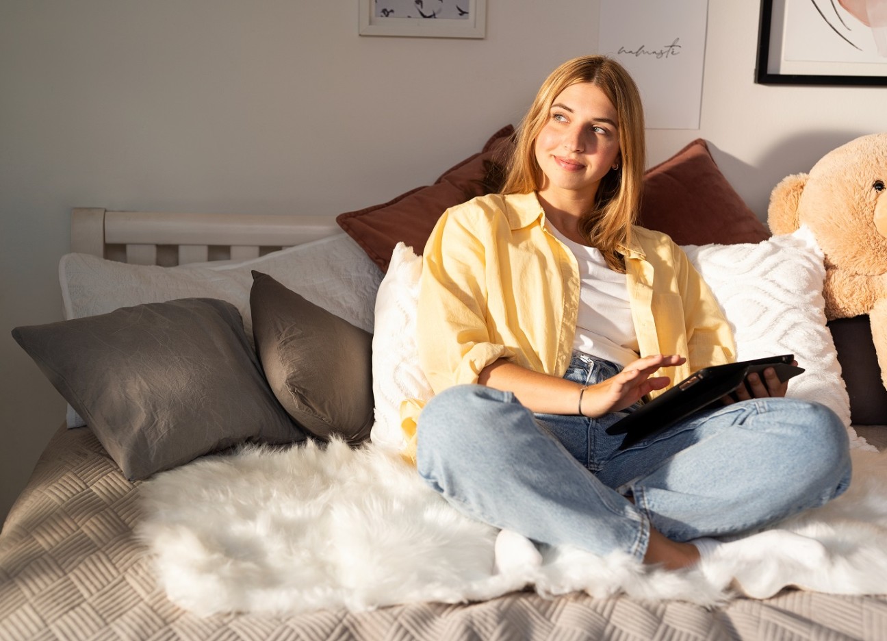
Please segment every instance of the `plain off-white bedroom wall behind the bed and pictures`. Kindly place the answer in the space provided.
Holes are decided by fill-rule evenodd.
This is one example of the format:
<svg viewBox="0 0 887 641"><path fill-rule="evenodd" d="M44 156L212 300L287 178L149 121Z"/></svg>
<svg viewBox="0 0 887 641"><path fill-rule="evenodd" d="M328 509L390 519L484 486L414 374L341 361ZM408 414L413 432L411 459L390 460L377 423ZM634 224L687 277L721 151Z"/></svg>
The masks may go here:
<svg viewBox="0 0 887 641"><path fill-rule="evenodd" d="M0 3L0 518L64 402L10 330L61 318L72 206L328 214L428 184L517 123L594 0L488 0L483 40L357 36L357 2ZM761 218L783 176L887 130L887 89L753 83L756 2L710 0L702 128Z"/></svg>

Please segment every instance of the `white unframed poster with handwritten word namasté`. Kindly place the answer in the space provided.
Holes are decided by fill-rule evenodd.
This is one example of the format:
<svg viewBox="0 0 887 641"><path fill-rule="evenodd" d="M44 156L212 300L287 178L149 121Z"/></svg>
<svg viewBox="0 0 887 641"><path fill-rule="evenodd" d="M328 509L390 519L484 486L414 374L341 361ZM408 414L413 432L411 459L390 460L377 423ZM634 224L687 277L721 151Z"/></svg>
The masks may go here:
<svg viewBox="0 0 887 641"><path fill-rule="evenodd" d="M699 129L708 0L600 0L599 52L638 83L648 129Z"/></svg>

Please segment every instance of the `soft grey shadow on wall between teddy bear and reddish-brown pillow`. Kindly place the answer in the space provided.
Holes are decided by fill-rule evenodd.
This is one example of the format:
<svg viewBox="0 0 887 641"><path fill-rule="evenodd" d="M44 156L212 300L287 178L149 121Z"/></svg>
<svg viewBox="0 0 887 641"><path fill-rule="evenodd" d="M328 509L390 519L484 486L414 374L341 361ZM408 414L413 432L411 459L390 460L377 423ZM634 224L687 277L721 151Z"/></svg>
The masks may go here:
<svg viewBox="0 0 887 641"><path fill-rule="evenodd" d="M709 142L711 155L720 170L730 176L734 185L756 186L747 193L746 204L752 211L759 212L766 224L766 212L770 203L770 193L782 178L791 174L806 173L832 149L874 131L810 131L796 133L781 139L765 150L756 166L742 162L726 154L717 145Z"/></svg>

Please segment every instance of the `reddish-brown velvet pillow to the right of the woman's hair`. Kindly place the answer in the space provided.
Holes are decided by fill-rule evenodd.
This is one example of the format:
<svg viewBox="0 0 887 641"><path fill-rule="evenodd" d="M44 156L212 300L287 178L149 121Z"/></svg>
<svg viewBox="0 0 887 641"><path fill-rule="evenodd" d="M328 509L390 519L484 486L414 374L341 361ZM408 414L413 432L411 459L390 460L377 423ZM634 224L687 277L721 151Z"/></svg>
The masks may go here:
<svg viewBox="0 0 887 641"><path fill-rule="evenodd" d="M667 233L679 245L760 242L770 237L697 138L647 170L640 226Z"/></svg>

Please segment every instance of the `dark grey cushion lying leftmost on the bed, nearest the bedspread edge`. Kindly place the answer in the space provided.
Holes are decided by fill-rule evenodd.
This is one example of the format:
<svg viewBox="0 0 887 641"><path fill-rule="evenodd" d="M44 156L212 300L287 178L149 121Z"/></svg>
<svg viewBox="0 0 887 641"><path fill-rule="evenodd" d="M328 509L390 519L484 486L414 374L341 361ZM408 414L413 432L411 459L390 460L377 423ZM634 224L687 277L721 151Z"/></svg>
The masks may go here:
<svg viewBox="0 0 887 641"><path fill-rule="evenodd" d="M243 441L306 438L265 383L230 303L182 298L12 336L130 480Z"/></svg>

